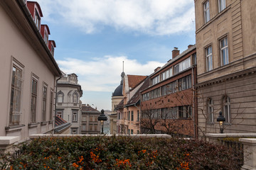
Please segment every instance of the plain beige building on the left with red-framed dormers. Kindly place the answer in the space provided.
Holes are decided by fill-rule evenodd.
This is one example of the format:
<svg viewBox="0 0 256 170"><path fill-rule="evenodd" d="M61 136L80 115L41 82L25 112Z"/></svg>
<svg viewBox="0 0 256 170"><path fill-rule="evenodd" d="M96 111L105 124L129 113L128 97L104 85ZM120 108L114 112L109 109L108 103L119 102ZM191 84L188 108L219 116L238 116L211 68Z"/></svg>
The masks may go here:
<svg viewBox="0 0 256 170"><path fill-rule="evenodd" d="M54 128L55 82L61 72L41 35L42 17L37 2L0 1L0 136L16 136L19 142Z"/></svg>

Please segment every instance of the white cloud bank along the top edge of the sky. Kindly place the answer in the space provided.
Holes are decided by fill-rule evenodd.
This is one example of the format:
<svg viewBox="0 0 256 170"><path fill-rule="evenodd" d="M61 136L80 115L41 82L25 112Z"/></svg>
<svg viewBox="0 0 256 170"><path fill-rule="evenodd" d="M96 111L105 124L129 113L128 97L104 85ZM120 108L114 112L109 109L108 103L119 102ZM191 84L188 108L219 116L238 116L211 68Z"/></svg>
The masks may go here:
<svg viewBox="0 0 256 170"><path fill-rule="evenodd" d="M193 0L38 0L46 21L65 22L85 33L107 27L149 35L193 30ZM58 16L58 18L55 18Z"/></svg>

